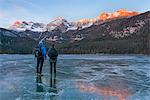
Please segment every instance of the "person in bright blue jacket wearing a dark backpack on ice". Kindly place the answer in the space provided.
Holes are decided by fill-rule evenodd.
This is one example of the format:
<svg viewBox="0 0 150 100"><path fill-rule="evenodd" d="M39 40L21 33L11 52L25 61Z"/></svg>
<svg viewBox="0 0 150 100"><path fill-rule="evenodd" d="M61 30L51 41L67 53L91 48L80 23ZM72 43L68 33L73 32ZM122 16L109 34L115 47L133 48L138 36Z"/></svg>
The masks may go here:
<svg viewBox="0 0 150 100"><path fill-rule="evenodd" d="M36 73L37 75L42 75L43 63L46 60L46 47L45 47L44 39L42 39L39 42L38 46L36 47L35 57L37 57Z"/></svg>

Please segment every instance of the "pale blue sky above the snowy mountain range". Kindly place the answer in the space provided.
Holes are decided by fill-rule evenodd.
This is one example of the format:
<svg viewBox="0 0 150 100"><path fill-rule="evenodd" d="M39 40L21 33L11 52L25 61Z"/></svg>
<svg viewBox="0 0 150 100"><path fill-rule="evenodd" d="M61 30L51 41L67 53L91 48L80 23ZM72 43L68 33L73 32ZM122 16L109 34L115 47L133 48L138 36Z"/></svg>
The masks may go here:
<svg viewBox="0 0 150 100"><path fill-rule="evenodd" d="M56 17L76 21L119 9L150 11L150 0L0 0L0 27L15 21L49 23Z"/></svg>

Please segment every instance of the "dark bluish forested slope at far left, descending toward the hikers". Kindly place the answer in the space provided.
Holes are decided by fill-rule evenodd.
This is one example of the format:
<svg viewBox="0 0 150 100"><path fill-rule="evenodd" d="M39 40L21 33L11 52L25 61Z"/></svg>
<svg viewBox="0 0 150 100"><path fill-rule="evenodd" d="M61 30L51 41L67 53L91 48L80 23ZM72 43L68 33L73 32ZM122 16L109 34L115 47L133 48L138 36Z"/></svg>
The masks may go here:
<svg viewBox="0 0 150 100"><path fill-rule="evenodd" d="M2 28L0 28L0 40L0 53L32 53L37 45L37 41L31 38L20 37L15 32Z"/></svg>

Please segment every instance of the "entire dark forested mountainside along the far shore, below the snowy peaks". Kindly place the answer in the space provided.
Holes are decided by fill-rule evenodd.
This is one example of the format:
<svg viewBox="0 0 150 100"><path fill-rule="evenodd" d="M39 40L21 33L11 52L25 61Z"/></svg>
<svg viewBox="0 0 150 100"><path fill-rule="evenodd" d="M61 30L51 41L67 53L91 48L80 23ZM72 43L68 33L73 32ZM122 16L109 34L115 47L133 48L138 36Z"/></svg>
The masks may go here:
<svg viewBox="0 0 150 100"><path fill-rule="evenodd" d="M56 24L70 25L64 20ZM150 11L106 20L83 29L66 31L59 25L54 30L43 32L0 28L0 53L31 53L38 41L46 38L47 46L55 43L60 53L150 54Z"/></svg>

